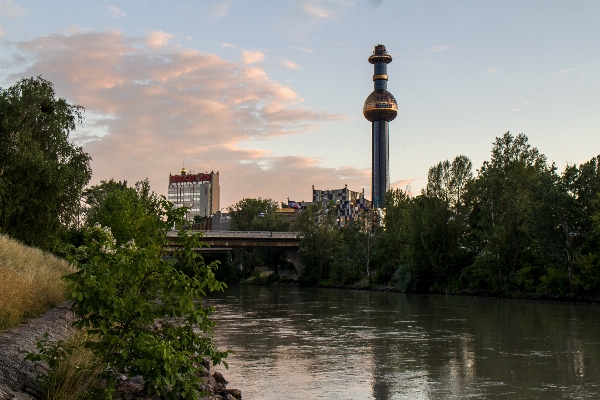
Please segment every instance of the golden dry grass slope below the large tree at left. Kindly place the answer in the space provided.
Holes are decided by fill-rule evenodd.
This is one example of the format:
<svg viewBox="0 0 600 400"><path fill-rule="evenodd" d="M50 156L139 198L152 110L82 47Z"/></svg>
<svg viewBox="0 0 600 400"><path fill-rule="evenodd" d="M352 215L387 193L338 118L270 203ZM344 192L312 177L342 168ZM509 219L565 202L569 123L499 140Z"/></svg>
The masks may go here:
<svg viewBox="0 0 600 400"><path fill-rule="evenodd" d="M65 260L0 235L0 332L64 301L60 277L71 272Z"/></svg>

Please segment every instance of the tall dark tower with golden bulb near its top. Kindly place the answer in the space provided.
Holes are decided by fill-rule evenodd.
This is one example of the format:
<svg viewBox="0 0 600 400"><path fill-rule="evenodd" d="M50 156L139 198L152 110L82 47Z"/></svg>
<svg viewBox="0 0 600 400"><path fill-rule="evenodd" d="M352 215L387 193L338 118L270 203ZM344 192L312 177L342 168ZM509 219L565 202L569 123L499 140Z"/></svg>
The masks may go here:
<svg viewBox="0 0 600 400"><path fill-rule="evenodd" d="M392 62L392 56L387 54L385 46L378 44L369 57L373 64L373 93L365 100L363 115L371 121L372 135L372 170L371 195L373 207L383 205L385 192L390 188L389 166L389 122L398 114L398 103L394 96L387 91L387 65Z"/></svg>

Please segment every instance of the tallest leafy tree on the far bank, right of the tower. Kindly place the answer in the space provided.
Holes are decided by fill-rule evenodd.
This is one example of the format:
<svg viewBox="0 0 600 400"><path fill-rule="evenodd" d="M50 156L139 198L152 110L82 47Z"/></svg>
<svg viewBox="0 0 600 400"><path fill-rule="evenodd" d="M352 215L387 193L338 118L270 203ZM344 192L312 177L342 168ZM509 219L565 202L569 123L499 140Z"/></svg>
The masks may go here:
<svg viewBox="0 0 600 400"><path fill-rule="evenodd" d="M509 132L496 138L490 161L469 186L471 243L478 256L464 282L471 288L513 290L517 271L536 258L535 221L544 213L545 183L553 166L532 148L525 135ZM472 278L472 279L471 279Z"/></svg>

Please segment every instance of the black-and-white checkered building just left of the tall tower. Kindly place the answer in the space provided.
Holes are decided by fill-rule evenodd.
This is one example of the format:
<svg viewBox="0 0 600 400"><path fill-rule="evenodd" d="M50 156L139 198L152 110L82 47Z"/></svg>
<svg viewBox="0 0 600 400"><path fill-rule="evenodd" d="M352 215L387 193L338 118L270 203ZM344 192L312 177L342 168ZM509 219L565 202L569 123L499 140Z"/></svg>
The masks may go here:
<svg viewBox="0 0 600 400"><path fill-rule="evenodd" d="M354 192L345 185L342 189L318 190L313 186L313 203L329 209L336 207L338 226L355 221L363 212L371 209L371 202L365 199L365 191Z"/></svg>

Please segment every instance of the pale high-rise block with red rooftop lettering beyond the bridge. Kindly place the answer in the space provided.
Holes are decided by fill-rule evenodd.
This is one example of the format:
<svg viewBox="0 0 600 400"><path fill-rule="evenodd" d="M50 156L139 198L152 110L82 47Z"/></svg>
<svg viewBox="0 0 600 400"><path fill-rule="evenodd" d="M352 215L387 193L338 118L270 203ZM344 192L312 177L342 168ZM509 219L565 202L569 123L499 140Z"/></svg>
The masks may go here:
<svg viewBox="0 0 600 400"><path fill-rule="evenodd" d="M185 168L179 175L169 174L167 200L176 207L188 207L187 219L210 217L220 211L219 173L188 174Z"/></svg>

